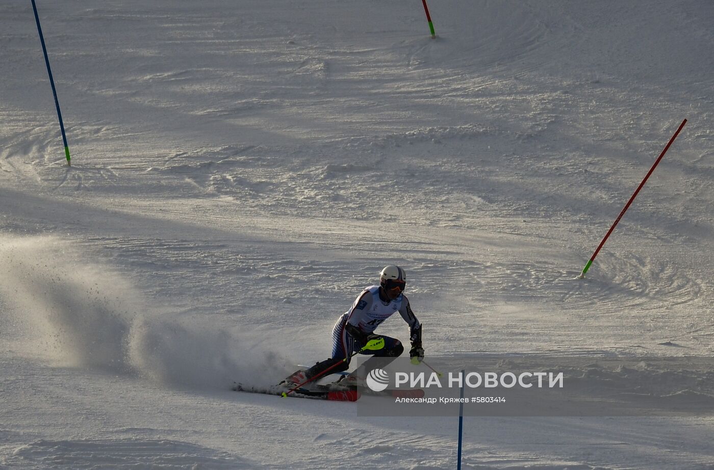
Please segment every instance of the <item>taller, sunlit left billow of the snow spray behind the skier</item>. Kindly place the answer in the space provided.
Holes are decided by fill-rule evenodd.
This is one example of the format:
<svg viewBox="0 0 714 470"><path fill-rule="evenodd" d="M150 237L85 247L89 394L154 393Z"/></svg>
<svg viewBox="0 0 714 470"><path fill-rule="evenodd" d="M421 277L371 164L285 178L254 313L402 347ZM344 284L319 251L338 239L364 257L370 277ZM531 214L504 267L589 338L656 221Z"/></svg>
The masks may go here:
<svg viewBox="0 0 714 470"><path fill-rule="evenodd" d="M54 236L0 237L0 302L14 347L54 366L131 369L126 337L141 301L129 282Z"/></svg>

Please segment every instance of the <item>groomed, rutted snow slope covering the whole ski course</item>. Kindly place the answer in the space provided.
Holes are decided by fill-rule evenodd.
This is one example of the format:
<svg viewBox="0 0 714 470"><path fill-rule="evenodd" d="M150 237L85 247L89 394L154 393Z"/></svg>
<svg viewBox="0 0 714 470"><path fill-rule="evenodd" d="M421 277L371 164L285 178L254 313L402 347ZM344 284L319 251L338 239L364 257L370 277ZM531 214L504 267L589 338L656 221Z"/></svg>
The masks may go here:
<svg viewBox="0 0 714 470"><path fill-rule="evenodd" d="M427 357L713 354L714 3L429 7L436 39L416 0L38 1L68 167L31 4L0 3L0 469L455 468L453 417L229 389L328 357L388 264ZM463 468L713 441L467 418Z"/></svg>

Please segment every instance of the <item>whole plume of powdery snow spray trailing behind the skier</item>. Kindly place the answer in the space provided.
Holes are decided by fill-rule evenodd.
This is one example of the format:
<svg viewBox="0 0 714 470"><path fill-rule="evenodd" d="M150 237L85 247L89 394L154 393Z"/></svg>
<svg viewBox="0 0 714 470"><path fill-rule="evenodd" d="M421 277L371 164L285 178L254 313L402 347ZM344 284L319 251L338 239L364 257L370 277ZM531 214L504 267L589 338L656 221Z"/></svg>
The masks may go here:
<svg viewBox="0 0 714 470"><path fill-rule="evenodd" d="M267 386L290 368L264 340L152 305L126 275L59 237L0 234L0 266L0 325L13 349L53 367L223 390L236 380Z"/></svg>

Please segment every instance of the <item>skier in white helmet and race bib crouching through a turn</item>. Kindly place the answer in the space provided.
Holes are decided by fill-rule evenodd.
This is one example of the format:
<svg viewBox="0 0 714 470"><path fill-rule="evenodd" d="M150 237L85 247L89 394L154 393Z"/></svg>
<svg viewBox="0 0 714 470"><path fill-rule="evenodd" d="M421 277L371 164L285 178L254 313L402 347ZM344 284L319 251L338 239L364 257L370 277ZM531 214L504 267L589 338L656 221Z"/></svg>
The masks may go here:
<svg viewBox="0 0 714 470"><path fill-rule="evenodd" d="M365 350L361 354L372 354L374 357L396 358L404 352L401 342L392 337L378 336L374 330L394 312L399 312L409 325L411 350L409 356L412 362L421 362L424 349L421 346L421 324L411 311L411 305L406 295L406 274L401 267L386 266L379 275L379 285L366 287L347 312L337 320L332 330L332 357L316 363L307 370L298 370L287 377L281 385L289 388L303 384L313 377L318 378L323 372L342 372L349 368L351 357L371 339L384 338L384 347L377 351ZM391 359L393 360L393 359ZM341 377L341 385L363 385L367 375L369 361L358 367L346 377ZM384 365L382 362L381 365ZM329 369L329 371L328 371Z"/></svg>

